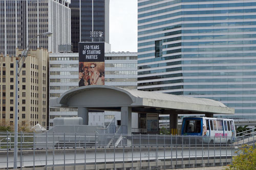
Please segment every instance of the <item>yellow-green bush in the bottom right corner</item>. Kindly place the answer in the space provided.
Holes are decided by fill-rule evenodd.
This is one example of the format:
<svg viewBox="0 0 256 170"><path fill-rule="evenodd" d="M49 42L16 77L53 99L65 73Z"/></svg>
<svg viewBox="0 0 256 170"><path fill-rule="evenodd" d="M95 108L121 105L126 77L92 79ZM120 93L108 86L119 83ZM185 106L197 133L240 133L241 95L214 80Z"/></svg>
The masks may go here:
<svg viewBox="0 0 256 170"><path fill-rule="evenodd" d="M234 156L232 158L232 165L228 165L226 169L256 169L256 149L253 148L253 146L248 147L248 145L244 145L242 148L240 148L238 153L238 156Z"/></svg>

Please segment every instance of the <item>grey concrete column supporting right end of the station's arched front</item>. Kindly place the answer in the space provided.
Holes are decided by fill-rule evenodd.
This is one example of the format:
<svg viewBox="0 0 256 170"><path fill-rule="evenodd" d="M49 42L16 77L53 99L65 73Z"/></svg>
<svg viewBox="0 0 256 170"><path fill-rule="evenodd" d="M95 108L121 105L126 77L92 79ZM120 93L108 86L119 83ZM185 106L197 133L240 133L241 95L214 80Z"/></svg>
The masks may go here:
<svg viewBox="0 0 256 170"><path fill-rule="evenodd" d="M132 134L132 108L121 107L121 125L127 127L127 135Z"/></svg>

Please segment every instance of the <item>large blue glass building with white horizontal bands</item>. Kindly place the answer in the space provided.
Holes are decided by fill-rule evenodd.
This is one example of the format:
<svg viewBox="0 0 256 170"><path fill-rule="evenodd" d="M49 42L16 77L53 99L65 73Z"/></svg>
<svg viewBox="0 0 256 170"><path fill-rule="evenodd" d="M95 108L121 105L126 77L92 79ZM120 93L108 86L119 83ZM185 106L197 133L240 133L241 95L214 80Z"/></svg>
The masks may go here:
<svg viewBox="0 0 256 170"><path fill-rule="evenodd" d="M138 1L138 89L221 101L256 118L254 1Z"/></svg>

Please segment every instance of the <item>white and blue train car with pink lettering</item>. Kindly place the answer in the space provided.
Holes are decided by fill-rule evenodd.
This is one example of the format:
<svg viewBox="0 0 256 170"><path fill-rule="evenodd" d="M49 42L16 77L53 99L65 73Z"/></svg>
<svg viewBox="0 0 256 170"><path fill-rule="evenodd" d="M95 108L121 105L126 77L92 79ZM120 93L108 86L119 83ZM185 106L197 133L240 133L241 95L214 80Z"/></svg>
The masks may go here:
<svg viewBox="0 0 256 170"><path fill-rule="evenodd" d="M204 136L207 143L231 143L236 137L234 121L227 118L184 117L181 128L181 135Z"/></svg>

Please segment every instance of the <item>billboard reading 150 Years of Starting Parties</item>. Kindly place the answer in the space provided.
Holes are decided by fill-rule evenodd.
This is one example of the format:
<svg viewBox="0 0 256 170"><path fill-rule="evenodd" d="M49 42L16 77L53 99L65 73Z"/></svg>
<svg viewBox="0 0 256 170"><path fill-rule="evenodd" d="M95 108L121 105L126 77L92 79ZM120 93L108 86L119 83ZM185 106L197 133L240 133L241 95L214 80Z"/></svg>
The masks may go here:
<svg viewBox="0 0 256 170"><path fill-rule="evenodd" d="M79 42L79 87L104 85L104 42Z"/></svg>

